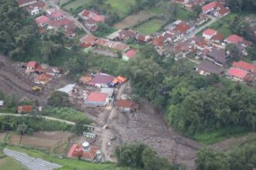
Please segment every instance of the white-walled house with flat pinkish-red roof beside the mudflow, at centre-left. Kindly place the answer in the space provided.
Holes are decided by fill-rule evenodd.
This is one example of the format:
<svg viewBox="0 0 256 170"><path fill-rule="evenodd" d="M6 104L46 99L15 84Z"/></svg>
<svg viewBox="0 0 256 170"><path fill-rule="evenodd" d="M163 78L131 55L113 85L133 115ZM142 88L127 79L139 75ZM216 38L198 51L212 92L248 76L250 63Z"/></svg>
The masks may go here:
<svg viewBox="0 0 256 170"><path fill-rule="evenodd" d="M105 107L109 104L108 93L101 93L94 91L88 94L85 100L85 105L87 107Z"/></svg>

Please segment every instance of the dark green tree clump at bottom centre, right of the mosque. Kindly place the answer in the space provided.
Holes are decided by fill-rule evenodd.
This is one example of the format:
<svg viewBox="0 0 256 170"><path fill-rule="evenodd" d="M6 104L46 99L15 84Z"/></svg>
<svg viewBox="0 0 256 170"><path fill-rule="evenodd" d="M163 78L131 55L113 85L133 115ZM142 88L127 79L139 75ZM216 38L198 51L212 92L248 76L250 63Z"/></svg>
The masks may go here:
<svg viewBox="0 0 256 170"><path fill-rule="evenodd" d="M115 150L117 165L142 168L144 170L174 170L180 169L178 166L172 166L164 159L159 158L157 154L147 145L137 143L135 145L120 145Z"/></svg>

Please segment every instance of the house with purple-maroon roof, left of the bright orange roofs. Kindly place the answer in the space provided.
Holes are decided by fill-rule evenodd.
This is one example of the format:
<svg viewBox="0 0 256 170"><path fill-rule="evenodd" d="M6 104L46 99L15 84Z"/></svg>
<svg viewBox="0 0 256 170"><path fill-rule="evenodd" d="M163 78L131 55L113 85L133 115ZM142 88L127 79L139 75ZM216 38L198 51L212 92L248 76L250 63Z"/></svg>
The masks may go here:
<svg viewBox="0 0 256 170"><path fill-rule="evenodd" d="M87 84L89 86L93 87L109 87L109 83L114 80L114 76L110 76L109 74L106 73L99 73L95 76L92 77L92 80L90 80Z"/></svg>

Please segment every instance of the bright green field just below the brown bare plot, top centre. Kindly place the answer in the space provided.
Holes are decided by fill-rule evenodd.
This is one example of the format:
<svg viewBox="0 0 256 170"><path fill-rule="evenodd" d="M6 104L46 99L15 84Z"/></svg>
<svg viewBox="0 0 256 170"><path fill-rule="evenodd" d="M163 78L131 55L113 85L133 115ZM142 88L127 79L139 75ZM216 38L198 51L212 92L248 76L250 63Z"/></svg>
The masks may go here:
<svg viewBox="0 0 256 170"><path fill-rule="evenodd" d="M140 24L135 29L140 33L151 34L160 30L165 23L166 22L161 19L150 19L149 21Z"/></svg>

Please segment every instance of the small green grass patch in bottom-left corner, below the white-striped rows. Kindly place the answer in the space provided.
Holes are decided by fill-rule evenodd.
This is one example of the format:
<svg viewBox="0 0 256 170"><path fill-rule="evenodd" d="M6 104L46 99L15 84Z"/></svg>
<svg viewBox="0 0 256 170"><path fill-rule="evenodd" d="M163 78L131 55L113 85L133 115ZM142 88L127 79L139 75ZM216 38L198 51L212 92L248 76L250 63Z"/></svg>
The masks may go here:
<svg viewBox="0 0 256 170"><path fill-rule="evenodd" d="M14 158L5 157L0 159L1 170L26 170L26 168L17 162Z"/></svg>

